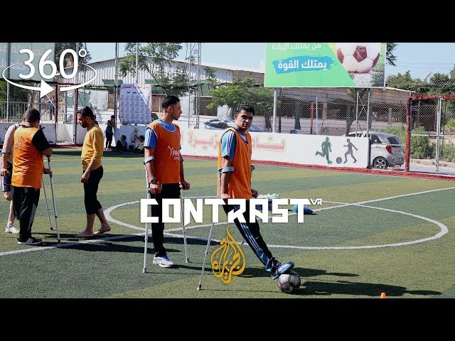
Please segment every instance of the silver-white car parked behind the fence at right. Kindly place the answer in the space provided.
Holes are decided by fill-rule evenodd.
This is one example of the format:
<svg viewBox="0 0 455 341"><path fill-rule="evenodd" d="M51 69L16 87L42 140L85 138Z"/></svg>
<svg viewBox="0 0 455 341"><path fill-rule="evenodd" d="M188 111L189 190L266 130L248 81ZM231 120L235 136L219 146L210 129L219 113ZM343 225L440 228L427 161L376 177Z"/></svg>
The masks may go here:
<svg viewBox="0 0 455 341"><path fill-rule="evenodd" d="M346 136L365 136L365 132L355 131ZM381 131L368 131L370 137L370 166L387 169L390 166L401 166L405 163L405 154L398 136Z"/></svg>

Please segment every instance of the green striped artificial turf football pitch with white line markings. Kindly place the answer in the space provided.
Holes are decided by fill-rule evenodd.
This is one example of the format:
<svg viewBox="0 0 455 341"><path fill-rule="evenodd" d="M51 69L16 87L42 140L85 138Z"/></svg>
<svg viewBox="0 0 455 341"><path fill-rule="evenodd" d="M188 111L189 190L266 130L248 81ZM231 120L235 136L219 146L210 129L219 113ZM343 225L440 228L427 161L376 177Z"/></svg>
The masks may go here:
<svg viewBox="0 0 455 341"><path fill-rule="evenodd" d="M43 175L53 230L41 189L32 234L43 245L18 245L16 234L0 233L0 298L379 298L381 293L387 298L455 298L454 181L256 164L252 188L259 194L323 200L309 207L314 215L305 215L304 222L297 222L292 210L287 223L259 220L272 254L294 262L301 288L294 295L279 291L250 247L240 243L235 225L221 222L213 228L203 290L198 291L211 210L204 210L203 223L186 227L189 263L181 223L166 224L172 268L152 265L149 234L143 273L142 161L138 155L105 152L98 200L112 230L77 239L86 222L80 149L55 149L51 166L61 242L49 177ZM214 197L216 161L186 158L184 165L191 190L183 191L183 197ZM9 202L3 198L0 210L4 229ZM225 221L223 210L219 214ZM14 225L18 228L18 222ZM214 276L210 265L210 254L227 229L246 264L228 284Z"/></svg>

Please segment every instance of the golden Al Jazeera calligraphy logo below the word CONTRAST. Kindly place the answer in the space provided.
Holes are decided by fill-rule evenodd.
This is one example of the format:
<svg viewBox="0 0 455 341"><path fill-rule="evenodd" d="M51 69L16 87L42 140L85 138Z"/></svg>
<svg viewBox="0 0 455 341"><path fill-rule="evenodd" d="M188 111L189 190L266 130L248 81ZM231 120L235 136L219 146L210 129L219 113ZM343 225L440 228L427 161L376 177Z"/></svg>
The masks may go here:
<svg viewBox="0 0 455 341"><path fill-rule="evenodd" d="M229 284L232 276L240 275L245 270L245 254L229 233L228 227L226 227L226 233L227 237L220 241L221 246L212 252L210 263L215 277Z"/></svg>

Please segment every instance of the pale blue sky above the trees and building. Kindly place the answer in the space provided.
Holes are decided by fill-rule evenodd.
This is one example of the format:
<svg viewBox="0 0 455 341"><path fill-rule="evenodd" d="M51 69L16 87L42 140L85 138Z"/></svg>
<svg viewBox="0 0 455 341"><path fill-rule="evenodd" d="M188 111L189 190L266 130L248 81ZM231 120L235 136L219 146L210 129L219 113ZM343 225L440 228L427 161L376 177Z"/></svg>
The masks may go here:
<svg viewBox="0 0 455 341"><path fill-rule="evenodd" d="M115 43L87 43L92 62L114 58ZM185 58L183 44L178 58ZM396 66L386 65L388 75L404 74L410 70L411 77L423 80L435 72L448 74L455 65L455 43L398 43L394 51ZM124 43L119 43L119 56L124 53ZM221 65L234 65L264 69L264 43L202 43L201 61Z"/></svg>

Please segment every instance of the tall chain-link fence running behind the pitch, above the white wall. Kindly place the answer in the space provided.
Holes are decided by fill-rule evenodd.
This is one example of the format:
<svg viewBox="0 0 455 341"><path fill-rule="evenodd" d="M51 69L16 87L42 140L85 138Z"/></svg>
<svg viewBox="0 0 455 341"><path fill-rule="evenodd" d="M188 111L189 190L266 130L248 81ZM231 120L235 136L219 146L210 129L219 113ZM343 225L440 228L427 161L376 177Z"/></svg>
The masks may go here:
<svg viewBox="0 0 455 341"><path fill-rule="evenodd" d="M6 55L4 50L0 50L0 66L11 65L17 59L20 46L9 44L10 50L14 52ZM235 107L246 102L256 109L253 124L260 131L334 136L353 131L385 131L399 136L404 145L407 100L414 96L410 104L410 158L428 160L430 163L437 162L438 158L447 163L455 162L455 102L446 97L439 103L439 98L455 93L455 78L452 79L451 75L445 77L437 74L424 81L414 82L411 79L407 83L399 82L397 76L390 76L387 77L385 88L267 88L263 87L264 72L261 70L201 63L203 50L200 44L179 45L182 50L186 49L186 57L164 63L161 78L154 73L156 65L153 58L146 56L145 59L140 59L140 63L146 67L139 68L137 75L134 67L122 74L122 60L135 59L132 54L134 50L130 49L129 57L115 58L116 53L112 50L112 58L97 63L90 63L89 50L87 55L79 58L78 71L74 77L62 77L62 70L58 70L48 81L51 86L58 87L58 92L54 90L43 97L39 97L37 91L9 85L1 79L0 121L21 121L26 109L36 107L42 113L41 121L75 124L75 109L87 105L92 107L100 124L105 124L112 114L115 115L117 124L121 124L119 85L131 84L137 80L139 84L151 85L151 120L159 118L161 102L166 94L174 94L181 99L181 124L198 129L205 128L205 123L213 119L232 118ZM146 46L141 44L141 48ZM44 43L33 43L30 47L36 56L42 56L47 48L48 45ZM59 65L60 58L63 58L64 75L70 75L75 61L71 53L63 55L63 50L74 50L79 54L85 48L85 43L55 43L54 63ZM230 53L230 44L226 44L226 50L219 53ZM130 66L134 63L135 61ZM89 85L78 90L62 91L68 85L90 80L91 67L96 70L97 78ZM16 73L18 71L15 70ZM40 86L38 80L33 79L22 83L29 87ZM435 97L415 97L419 95Z"/></svg>

